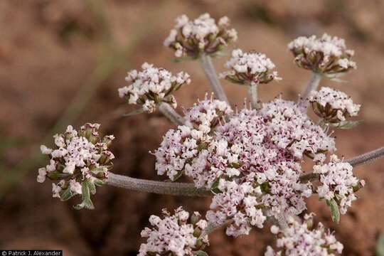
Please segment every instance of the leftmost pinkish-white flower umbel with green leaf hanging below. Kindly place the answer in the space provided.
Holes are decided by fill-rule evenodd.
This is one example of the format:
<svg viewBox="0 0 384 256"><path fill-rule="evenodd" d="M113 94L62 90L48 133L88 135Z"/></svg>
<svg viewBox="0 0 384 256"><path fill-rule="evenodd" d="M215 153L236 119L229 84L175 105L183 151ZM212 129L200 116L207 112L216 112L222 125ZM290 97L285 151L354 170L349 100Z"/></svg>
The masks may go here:
<svg viewBox="0 0 384 256"><path fill-rule="evenodd" d="M84 124L79 131L68 126L63 134L56 134L55 147L41 145L41 152L49 156L46 167L38 169L38 182L46 178L52 183L53 197L67 201L75 195L82 196L77 209L92 209L90 194L96 193L95 186L102 186L112 169L110 160L114 155L108 150L113 135L99 136L100 124Z"/></svg>

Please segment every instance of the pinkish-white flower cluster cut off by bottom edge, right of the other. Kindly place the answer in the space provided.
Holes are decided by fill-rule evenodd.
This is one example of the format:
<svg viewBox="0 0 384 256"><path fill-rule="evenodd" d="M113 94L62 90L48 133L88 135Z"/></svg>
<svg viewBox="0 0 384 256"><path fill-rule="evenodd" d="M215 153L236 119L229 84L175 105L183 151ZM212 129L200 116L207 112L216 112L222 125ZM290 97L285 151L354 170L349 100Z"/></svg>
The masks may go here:
<svg viewBox="0 0 384 256"><path fill-rule="evenodd" d="M281 230L272 225L271 232L277 235L277 248L268 246L265 256L319 256L340 255L343 245L324 225L313 228L313 214L306 214L304 222L298 223L293 217L287 219L288 227Z"/></svg>

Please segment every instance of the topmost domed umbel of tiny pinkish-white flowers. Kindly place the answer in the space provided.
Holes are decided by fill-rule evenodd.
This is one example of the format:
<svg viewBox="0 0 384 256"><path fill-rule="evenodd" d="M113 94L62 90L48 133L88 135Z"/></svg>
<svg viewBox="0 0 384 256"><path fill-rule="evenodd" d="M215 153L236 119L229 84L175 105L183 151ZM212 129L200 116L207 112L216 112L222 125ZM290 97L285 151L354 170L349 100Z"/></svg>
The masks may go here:
<svg viewBox="0 0 384 256"><path fill-rule="evenodd" d="M176 25L164 41L164 46L174 50L177 58L216 55L238 39L238 33L229 26L230 21L226 16L216 23L209 14L202 14L193 21L182 15L176 18Z"/></svg>

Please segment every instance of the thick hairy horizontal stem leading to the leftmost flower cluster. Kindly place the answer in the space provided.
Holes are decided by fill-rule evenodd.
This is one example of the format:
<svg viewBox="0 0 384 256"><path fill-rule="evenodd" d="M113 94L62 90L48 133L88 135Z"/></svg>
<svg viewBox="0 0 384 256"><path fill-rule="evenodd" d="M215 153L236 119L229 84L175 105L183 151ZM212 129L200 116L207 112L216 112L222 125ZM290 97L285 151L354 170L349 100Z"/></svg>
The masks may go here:
<svg viewBox="0 0 384 256"><path fill-rule="evenodd" d="M149 181L142 178L131 178L119 174L108 174L107 184L132 191L158 193L174 196L212 196L206 189L195 188L193 183Z"/></svg>

